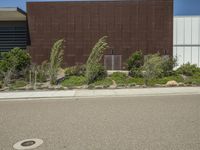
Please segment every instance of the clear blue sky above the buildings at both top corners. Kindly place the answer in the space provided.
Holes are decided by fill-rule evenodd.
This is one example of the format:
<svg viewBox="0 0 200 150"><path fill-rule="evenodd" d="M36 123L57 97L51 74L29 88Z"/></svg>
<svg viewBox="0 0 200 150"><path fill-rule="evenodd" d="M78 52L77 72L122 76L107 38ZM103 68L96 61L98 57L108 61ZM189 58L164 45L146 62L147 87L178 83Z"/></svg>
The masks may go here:
<svg viewBox="0 0 200 150"><path fill-rule="evenodd" d="M32 1L32 0L0 0L0 7L20 7L23 10L26 10L26 1ZM34 1L41 1L41 0L34 0ZM62 1L62 0L42 0L42 1ZM200 0L174 0L174 14L200 15Z"/></svg>

